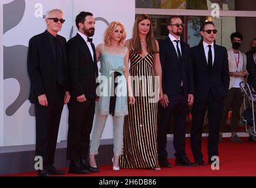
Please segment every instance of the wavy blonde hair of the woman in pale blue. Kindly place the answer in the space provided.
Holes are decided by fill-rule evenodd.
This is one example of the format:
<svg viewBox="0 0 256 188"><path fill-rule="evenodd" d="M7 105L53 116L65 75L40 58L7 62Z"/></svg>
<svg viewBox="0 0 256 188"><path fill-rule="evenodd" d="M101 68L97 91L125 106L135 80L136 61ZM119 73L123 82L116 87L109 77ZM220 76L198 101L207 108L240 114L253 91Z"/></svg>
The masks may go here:
<svg viewBox="0 0 256 188"><path fill-rule="evenodd" d="M109 24L108 28L105 31L104 43L106 45L110 45L110 43L111 43L111 36L114 34L115 28L117 28L117 26L120 26L122 28L122 38L119 41L119 44L124 46L124 42L125 42L125 38L127 36L127 33L125 32L124 24L122 24L121 22L117 22L117 21L111 22Z"/></svg>

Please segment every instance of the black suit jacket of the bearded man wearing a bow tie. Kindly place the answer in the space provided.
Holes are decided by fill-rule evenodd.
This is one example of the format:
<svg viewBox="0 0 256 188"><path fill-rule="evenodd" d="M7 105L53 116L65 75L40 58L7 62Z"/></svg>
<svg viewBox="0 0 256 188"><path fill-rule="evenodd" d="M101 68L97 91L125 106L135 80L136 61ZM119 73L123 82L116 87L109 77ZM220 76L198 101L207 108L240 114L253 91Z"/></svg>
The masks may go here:
<svg viewBox="0 0 256 188"><path fill-rule="evenodd" d="M68 79L71 97L85 95L87 99L96 97L96 78L98 66L93 43L94 61L82 36L78 33L67 43L68 45Z"/></svg>

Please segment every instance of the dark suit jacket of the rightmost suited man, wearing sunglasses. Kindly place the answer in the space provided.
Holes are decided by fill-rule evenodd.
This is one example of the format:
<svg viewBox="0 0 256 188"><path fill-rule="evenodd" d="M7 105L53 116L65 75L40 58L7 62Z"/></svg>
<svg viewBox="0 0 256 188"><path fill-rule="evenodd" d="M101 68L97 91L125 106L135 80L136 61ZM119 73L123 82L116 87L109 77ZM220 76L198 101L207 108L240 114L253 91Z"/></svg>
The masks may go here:
<svg viewBox="0 0 256 188"><path fill-rule="evenodd" d="M202 43L191 48L191 56L195 82L194 102L205 102L210 91L215 100L223 100L230 85L227 49L214 44L214 63L211 72L208 71Z"/></svg>

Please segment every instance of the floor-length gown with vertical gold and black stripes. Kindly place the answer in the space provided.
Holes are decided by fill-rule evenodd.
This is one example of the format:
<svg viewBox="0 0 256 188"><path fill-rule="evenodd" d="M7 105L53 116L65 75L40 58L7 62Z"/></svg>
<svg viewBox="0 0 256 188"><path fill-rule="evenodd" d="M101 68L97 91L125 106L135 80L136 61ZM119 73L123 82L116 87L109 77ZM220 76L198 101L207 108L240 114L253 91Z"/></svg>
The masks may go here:
<svg viewBox="0 0 256 188"><path fill-rule="evenodd" d="M154 76L154 53L145 58L130 51L130 75ZM144 82L145 83L145 82ZM144 84L145 86L145 84ZM119 166L121 168L154 169L157 163L157 103L149 102L150 96L141 96L142 84L134 85L135 104L128 105L128 115L124 120L124 142ZM149 79L147 88L154 91L155 81ZM139 96L135 90L139 90ZM148 93L147 93L148 94Z"/></svg>

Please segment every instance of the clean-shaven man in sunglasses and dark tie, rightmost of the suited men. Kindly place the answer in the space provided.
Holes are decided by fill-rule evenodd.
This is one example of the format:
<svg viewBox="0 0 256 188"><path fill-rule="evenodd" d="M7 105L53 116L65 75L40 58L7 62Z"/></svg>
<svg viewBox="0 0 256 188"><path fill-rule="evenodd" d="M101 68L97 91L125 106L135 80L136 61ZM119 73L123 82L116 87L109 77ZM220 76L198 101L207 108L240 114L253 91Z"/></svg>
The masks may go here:
<svg viewBox="0 0 256 188"><path fill-rule="evenodd" d="M219 155L223 101L230 84L227 49L215 44L216 33L213 22L204 22L200 28L202 41L191 48L195 99L190 136L191 149L198 165L206 165L201 151L202 125L206 109L209 122L208 164L212 164Z"/></svg>

